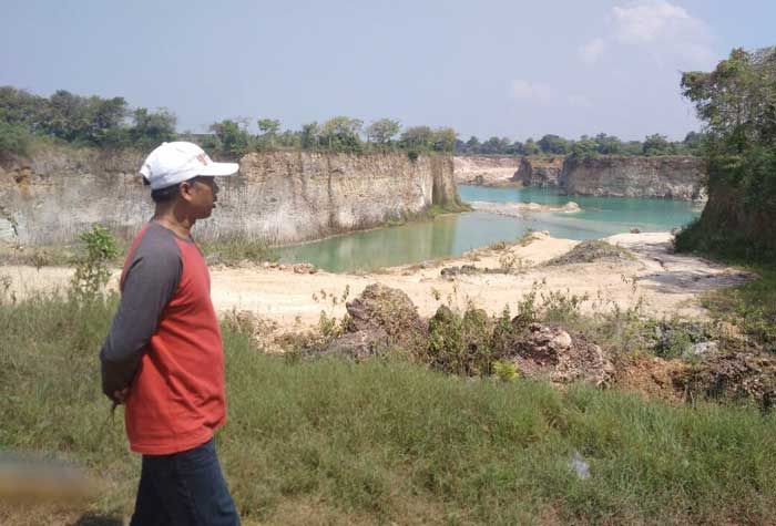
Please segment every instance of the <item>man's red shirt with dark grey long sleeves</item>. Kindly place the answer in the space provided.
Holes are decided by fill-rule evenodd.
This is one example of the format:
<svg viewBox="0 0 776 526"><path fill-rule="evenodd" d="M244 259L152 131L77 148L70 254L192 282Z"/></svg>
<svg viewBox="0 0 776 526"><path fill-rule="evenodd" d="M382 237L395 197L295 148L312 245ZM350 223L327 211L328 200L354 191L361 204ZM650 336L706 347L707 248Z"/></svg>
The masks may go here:
<svg viewBox="0 0 776 526"><path fill-rule="evenodd" d="M226 419L224 352L202 252L157 223L135 237L100 352L103 391L130 388L130 446L147 455L207 442Z"/></svg>

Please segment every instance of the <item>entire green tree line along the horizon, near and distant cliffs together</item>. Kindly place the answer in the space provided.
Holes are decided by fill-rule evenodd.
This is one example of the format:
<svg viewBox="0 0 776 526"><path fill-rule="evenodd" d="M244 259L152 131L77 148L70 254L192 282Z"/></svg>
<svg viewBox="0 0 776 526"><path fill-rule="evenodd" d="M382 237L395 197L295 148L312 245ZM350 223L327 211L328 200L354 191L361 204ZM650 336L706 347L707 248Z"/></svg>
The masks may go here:
<svg viewBox="0 0 776 526"><path fill-rule="evenodd" d="M248 152L267 149L320 149L345 153L406 151L410 157L421 153L443 152L459 155L672 155L696 154L704 136L691 132L681 142L664 135L647 135L644 141L622 141L601 133L569 140L544 135L538 141L510 141L476 136L463 142L451 127L408 126L397 120L380 118L368 125L345 115L328 121L303 124L298 130L283 130L276 118L258 118L258 133L252 121L227 118L210 126L207 134L187 134L205 148L223 157L239 157ZM13 86L0 86L0 153L23 154L37 136L48 136L76 145L135 147L149 149L173 141L175 114L166 109L132 109L121 97L83 96L64 90L49 97Z"/></svg>

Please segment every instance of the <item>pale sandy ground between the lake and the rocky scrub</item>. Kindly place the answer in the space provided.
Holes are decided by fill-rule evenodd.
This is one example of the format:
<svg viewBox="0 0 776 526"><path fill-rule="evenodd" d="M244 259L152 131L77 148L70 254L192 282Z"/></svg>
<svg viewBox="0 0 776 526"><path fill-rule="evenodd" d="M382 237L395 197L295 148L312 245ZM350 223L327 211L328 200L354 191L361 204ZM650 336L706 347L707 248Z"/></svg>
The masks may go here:
<svg viewBox="0 0 776 526"><path fill-rule="evenodd" d="M704 317L698 305L703 291L734 285L747 279L737 269L721 266L691 256L671 254L671 235L667 233L621 234L606 238L633 251L634 260L616 262L574 264L544 266L542 262L570 250L578 241L555 239L538 235L532 243L515 245L501 250L482 248L457 259L395 267L371 274L297 274L264 266L241 268L212 268L213 301L218 311L248 310L278 323L282 329L315 324L320 311L341 316L345 312L341 298L358 296L369 283L379 282L396 287L412 299L421 316L431 316L442 303L459 307L468 302L498 313L509 306L517 311L517 303L537 281L545 280L545 291L562 290L575 295L586 293L593 302L613 302L627 308L639 299L645 301L646 311L654 316ZM474 265L478 268L501 268L514 258L512 274L458 276L448 279L440 276L445 267ZM3 276L10 278L10 291L24 295L35 290L67 287L71 270L67 268L0 267L0 285ZM115 276L112 287L115 287ZM8 280L6 280L8 281ZM331 298L338 298L336 305Z"/></svg>

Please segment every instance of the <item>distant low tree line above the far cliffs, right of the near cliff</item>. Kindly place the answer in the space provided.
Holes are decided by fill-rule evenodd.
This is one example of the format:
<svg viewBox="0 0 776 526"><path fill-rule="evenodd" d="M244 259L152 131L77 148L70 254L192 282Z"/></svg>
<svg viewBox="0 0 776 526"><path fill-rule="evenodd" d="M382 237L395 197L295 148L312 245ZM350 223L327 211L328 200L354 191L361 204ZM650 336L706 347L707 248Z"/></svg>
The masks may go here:
<svg viewBox="0 0 776 526"><path fill-rule="evenodd" d="M644 141L622 141L614 135L600 133L595 136L582 135L579 140L548 134L539 141L510 141L507 137L490 137L480 142L476 136L469 141L456 141L456 153L460 155L574 155L595 157L598 155L697 155L704 142L704 134L690 132L683 141L670 141L665 135L647 135Z"/></svg>

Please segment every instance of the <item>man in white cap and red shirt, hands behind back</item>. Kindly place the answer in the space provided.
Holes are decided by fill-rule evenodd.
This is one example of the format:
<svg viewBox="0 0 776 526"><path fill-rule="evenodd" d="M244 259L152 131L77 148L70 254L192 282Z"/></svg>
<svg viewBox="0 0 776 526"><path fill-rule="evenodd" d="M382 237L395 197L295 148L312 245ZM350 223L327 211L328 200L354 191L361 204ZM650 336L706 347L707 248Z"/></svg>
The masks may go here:
<svg viewBox="0 0 776 526"><path fill-rule="evenodd" d="M126 404L130 446L143 454L132 526L239 523L213 444L226 419L221 330L191 236L215 208L214 177L237 169L174 142L140 171L156 209L126 256L121 303L100 352L103 391Z"/></svg>

